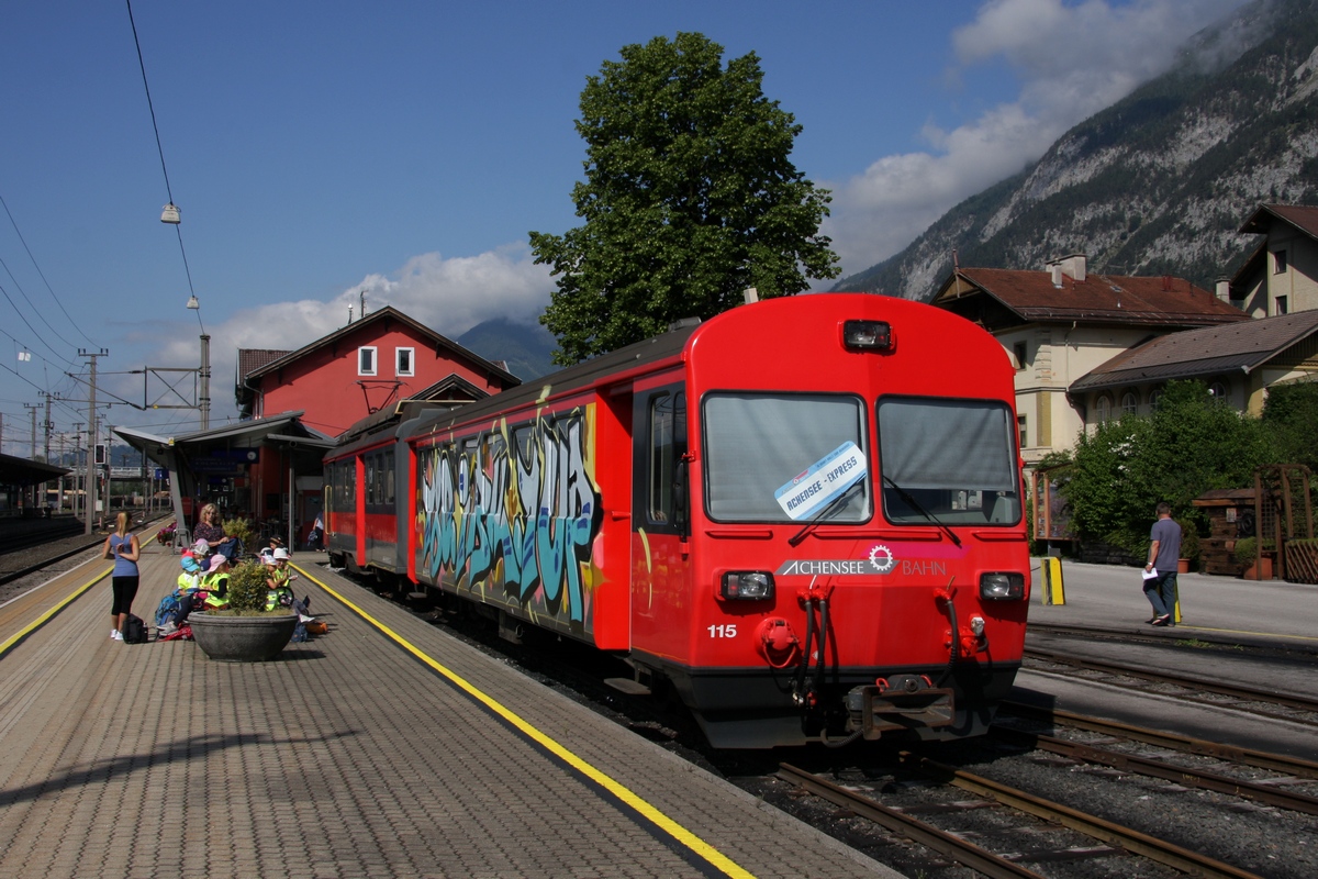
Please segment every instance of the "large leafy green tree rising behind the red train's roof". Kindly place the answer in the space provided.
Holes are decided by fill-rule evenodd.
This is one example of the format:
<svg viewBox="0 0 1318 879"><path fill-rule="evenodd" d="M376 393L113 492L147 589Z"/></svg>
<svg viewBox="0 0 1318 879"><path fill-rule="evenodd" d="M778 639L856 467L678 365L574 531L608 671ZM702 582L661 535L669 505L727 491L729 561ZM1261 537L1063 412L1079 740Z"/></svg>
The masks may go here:
<svg viewBox="0 0 1318 879"><path fill-rule="evenodd" d="M531 232L558 289L540 316L563 365L709 318L742 302L833 278L818 233L829 194L789 161L800 133L767 100L754 53L722 65L697 33L622 49L588 76L576 127L585 182L572 190L584 225Z"/></svg>

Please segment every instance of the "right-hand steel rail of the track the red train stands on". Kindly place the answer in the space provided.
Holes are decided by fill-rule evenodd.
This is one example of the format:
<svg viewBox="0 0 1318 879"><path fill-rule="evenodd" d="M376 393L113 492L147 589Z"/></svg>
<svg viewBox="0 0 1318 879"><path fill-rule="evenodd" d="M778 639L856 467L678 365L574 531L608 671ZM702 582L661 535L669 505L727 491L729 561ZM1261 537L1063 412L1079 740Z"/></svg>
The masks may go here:
<svg viewBox="0 0 1318 879"><path fill-rule="evenodd" d="M1045 821L1056 821L1072 830L1102 839L1108 845L1120 846L1127 851L1157 861L1193 876L1203 876L1205 879L1260 879L1257 874L1232 867L1228 863L1201 855L1189 849L1182 849L1165 839L1151 837L1139 830L1107 821L1106 818L1099 818L1098 816L1061 805L1060 803L1052 803L1032 793L1017 791L1006 784L999 784L965 770L937 763L909 751L902 752L902 762L920 770L937 781L953 784L979 796L990 797L1003 805L1027 812Z"/></svg>

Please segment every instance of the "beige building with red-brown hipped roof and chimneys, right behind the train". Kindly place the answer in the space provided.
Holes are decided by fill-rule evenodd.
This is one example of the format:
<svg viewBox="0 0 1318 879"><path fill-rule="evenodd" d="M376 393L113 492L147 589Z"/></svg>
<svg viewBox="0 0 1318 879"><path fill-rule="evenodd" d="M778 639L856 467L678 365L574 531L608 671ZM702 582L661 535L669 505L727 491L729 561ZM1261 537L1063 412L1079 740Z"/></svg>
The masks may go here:
<svg viewBox="0 0 1318 879"><path fill-rule="evenodd" d="M1315 250L1318 253L1318 250ZM1083 256L1045 271L957 269L932 299L998 337L1016 368L1016 418L1025 465L1069 449L1086 423L1147 412L1156 387L1089 398L1073 382L1151 339L1248 320L1184 278L1090 274Z"/></svg>

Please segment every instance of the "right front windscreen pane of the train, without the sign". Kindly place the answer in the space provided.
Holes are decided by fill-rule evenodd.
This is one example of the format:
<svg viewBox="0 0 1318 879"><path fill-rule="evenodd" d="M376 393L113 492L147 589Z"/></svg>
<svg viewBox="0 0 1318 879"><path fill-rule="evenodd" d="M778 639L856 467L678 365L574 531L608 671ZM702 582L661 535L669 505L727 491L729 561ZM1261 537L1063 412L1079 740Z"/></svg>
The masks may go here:
<svg viewBox="0 0 1318 879"><path fill-rule="evenodd" d="M998 401L879 401L883 514L894 525L1016 525L1016 423Z"/></svg>

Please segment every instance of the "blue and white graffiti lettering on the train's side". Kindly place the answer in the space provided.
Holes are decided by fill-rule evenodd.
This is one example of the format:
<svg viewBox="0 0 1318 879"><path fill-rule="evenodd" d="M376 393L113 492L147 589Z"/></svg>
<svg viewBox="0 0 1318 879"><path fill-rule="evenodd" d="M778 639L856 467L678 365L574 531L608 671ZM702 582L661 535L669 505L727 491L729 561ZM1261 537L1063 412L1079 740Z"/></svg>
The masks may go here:
<svg viewBox="0 0 1318 879"><path fill-rule="evenodd" d="M589 412L577 409L423 451L422 571L501 585L523 608L585 623L601 522L589 431Z"/></svg>

